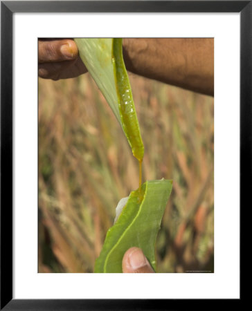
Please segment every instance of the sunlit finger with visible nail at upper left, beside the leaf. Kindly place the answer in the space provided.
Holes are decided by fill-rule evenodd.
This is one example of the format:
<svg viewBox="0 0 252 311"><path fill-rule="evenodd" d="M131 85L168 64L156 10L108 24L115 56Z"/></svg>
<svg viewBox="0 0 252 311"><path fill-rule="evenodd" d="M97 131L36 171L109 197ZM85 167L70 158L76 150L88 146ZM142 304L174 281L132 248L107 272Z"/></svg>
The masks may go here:
<svg viewBox="0 0 252 311"><path fill-rule="evenodd" d="M71 39L39 39L38 52L39 63L63 62L78 57L78 47Z"/></svg>

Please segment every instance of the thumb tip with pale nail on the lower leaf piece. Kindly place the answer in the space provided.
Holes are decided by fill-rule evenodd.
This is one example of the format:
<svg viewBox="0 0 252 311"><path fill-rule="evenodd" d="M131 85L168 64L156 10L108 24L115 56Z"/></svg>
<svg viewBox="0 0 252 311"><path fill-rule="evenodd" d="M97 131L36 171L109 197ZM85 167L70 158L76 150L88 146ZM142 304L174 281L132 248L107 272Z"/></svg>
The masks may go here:
<svg viewBox="0 0 252 311"><path fill-rule="evenodd" d="M123 273L154 273L142 249L132 247L123 256Z"/></svg>

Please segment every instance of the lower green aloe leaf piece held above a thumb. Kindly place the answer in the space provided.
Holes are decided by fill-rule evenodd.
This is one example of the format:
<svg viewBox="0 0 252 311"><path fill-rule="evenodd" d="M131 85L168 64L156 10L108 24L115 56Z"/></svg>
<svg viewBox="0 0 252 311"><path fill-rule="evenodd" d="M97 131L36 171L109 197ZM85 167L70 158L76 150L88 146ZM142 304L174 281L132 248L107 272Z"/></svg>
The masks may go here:
<svg viewBox="0 0 252 311"><path fill-rule="evenodd" d="M156 270L155 242L163 212L172 191L172 180L153 180L132 191L116 223L108 230L105 243L96 259L94 272L120 273L123 255L130 247L140 247Z"/></svg>

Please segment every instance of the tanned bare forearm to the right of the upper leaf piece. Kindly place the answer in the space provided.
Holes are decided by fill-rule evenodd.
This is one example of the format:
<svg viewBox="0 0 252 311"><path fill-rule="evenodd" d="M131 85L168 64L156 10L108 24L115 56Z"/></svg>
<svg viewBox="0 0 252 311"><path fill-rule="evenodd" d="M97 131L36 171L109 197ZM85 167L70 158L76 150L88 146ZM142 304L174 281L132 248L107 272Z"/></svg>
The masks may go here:
<svg viewBox="0 0 252 311"><path fill-rule="evenodd" d="M213 39L123 39L127 70L213 95Z"/></svg>

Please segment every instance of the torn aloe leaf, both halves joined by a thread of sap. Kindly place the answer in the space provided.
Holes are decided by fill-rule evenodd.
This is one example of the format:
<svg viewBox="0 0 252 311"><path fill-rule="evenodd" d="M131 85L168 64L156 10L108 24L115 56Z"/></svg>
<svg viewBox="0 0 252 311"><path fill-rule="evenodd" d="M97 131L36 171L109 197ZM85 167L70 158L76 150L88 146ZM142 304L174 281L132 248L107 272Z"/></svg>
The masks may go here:
<svg viewBox="0 0 252 311"><path fill-rule="evenodd" d="M128 200L125 198L126 205L114 226L107 232L94 272L122 272L123 255L133 246L143 250L155 270L154 246L165 205L172 190L172 181L154 180L141 185L144 148L132 90L123 62L122 39L88 38L75 39L75 42L82 61L114 111L132 153L139 161L139 188L132 191Z"/></svg>

